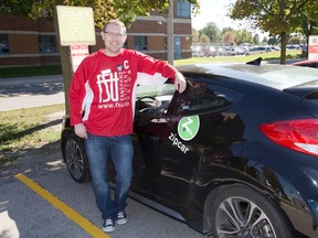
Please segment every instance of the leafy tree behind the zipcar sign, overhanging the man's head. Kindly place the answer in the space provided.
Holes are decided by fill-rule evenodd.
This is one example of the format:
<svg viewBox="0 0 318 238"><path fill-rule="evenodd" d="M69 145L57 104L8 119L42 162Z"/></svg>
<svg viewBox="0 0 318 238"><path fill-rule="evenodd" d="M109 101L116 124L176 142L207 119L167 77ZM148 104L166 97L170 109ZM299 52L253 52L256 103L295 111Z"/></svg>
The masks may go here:
<svg viewBox="0 0 318 238"><path fill-rule="evenodd" d="M198 0L184 1L192 3L192 11L199 11L200 3ZM56 6L91 7L94 11L95 26L103 29L105 22L110 19L119 19L129 26L136 17L148 17L149 12L156 9L167 13L169 0L2 0L0 13L6 12L32 19L46 18L54 23L56 35L59 35L55 15ZM66 113L68 113L67 95L73 75L70 63L70 47L61 46L60 43L59 45L64 79L65 108Z"/></svg>

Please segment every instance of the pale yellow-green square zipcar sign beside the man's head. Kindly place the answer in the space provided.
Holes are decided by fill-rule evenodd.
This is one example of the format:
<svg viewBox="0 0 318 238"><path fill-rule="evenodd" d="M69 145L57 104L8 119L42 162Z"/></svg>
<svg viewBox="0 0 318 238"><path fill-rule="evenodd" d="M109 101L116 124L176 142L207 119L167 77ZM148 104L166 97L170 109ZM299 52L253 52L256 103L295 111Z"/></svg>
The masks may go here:
<svg viewBox="0 0 318 238"><path fill-rule="evenodd" d="M92 8L56 6L61 45L95 45L95 24Z"/></svg>

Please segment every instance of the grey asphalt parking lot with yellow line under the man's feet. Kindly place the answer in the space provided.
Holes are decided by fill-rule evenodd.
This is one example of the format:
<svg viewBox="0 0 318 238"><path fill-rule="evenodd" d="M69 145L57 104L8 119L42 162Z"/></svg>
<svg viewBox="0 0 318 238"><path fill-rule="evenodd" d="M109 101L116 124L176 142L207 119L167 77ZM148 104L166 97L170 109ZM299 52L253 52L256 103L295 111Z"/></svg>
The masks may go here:
<svg viewBox="0 0 318 238"><path fill-rule="evenodd" d="M3 182L3 181L2 181ZM112 234L100 229L102 219L91 183L77 184L61 165L18 174L1 182L0 237L112 237L201 238L205 237L131 198L128 223Z"/></svg>

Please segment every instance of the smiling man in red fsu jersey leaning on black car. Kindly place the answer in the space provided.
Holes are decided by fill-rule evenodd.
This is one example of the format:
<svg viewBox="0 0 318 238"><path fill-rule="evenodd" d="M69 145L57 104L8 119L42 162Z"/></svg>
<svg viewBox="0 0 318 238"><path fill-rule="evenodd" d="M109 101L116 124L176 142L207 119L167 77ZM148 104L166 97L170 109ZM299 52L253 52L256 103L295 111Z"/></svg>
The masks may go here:
<svg viewBox="0 0 318 238"><path fill-rule="evenodd" d="M123 48L127 39L123 22L112 20L102 32L105 48L85 57L70 88L71 123L85 139L93 190L102 213L103 229L127 221L126 199L132 177L132 120L137 84L174 80L182 93L186 79L173 66L134 50ZM83 115L84 112L84 115ZM83 117L82 117L83 116ZM107 159L116 170L114 199L107 183Z"/></svg>

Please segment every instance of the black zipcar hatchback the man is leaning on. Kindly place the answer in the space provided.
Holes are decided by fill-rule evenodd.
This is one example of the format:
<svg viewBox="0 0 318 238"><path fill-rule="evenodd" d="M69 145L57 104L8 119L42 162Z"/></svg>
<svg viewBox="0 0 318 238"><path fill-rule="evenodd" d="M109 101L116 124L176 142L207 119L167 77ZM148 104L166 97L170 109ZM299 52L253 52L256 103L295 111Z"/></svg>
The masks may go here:
<svg viewBox="0 0 318 238"><path fill-rule="evenodd" d="M138 87L130 196L214 238L318 237L317 69L179 69L182 94L172 84ZM62 152L71 176L89 180L67 117Z"/></svg>

